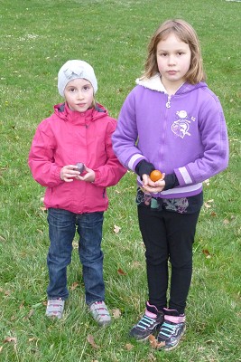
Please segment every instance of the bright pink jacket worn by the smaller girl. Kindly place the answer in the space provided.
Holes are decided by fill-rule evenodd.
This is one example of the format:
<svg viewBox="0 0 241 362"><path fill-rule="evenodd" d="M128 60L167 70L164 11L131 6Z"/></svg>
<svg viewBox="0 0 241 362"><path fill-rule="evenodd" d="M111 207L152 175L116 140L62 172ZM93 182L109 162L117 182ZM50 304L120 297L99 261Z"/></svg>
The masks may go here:
<svg viewBox="0 0 241 362"><path fill-rule="evenodd" d="M70 110L66 103L54 106L54 113L36 130L28 159L33 178L47 187L47 208L75 214L107 210L106 187L116 185L126 172L112 149L115 129L116 119L109 117L100 104L96 110L83 113ZM95 171L93 183L60 179L61 167L77 162Z"/></svg>

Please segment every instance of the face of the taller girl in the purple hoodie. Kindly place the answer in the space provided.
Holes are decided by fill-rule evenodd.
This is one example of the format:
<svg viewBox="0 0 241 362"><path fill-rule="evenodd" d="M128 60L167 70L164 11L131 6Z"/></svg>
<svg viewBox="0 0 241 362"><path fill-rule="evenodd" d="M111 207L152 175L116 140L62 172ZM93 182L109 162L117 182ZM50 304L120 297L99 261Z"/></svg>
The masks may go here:
<svg viewBox="0 0 241 362"><path fill-rule="evenodd" d="M156 48L158 69L166 89L177 90L185 81L185 74L190 69L190 46L171 33L160 41Z"/></svg>

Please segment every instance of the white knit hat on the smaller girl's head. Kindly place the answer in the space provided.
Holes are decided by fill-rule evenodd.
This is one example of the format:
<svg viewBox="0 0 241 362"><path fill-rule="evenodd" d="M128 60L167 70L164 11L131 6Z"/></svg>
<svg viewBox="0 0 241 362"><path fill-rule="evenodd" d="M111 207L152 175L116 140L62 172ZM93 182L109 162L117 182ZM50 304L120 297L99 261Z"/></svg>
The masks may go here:
<svg viewBox="0 0 241 362"><path fill-rule="evenodd" d="M60 92L60 96L64 97L63 92L69 81L73 81L78 78L84 78L87 81L90 81L92 87L94 88L94 93L97 92L97 77L94 69L88 64L88 62L74 60L63 64L58 73L58 90Z"/></svg>

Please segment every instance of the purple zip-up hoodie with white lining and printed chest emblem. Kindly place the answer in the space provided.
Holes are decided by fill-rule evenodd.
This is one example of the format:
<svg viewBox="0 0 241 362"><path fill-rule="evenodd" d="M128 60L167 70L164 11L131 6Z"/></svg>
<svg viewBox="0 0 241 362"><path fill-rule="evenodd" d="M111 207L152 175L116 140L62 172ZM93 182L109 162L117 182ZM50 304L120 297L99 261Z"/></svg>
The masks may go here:
<svg viewBox="0 0 241 362"><path fill-rule="evenodd" d="M120 111L112 142L120 162L131 170L145 159L179 186L154 197L198 195L202 182L228 164L227 126L218 97L205 82L184 83L169 96L160 74L136 80ZM137 183L142 181L137 176Z"/></svg>

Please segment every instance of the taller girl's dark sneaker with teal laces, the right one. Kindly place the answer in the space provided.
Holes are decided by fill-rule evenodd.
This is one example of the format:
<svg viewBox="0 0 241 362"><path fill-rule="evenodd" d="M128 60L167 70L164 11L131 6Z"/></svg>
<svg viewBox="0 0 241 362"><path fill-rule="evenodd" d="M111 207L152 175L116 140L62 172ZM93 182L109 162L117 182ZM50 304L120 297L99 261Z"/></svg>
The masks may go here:
<svg viewBox="0 0 241 362"><path fill-rule="evenodd" d="M178 347L185 332L185 315L180 315L177 310L167 309L164 309L164 313L164 322L158 334L157 342L160 349L171 350Z"/></svg>

